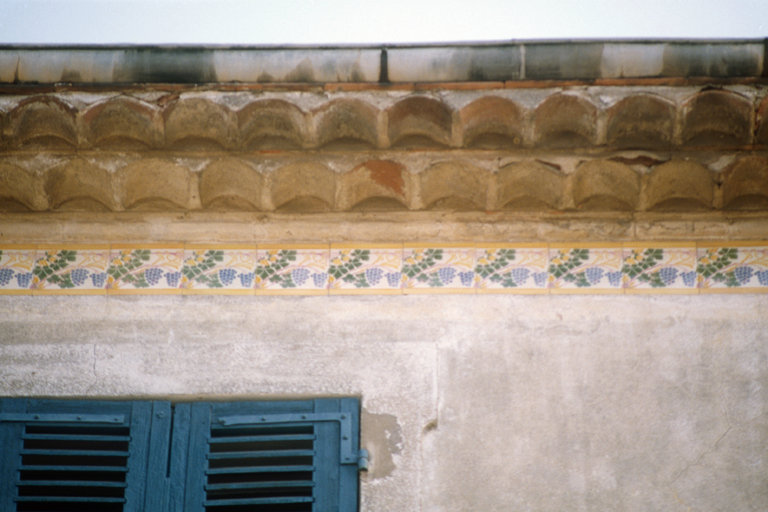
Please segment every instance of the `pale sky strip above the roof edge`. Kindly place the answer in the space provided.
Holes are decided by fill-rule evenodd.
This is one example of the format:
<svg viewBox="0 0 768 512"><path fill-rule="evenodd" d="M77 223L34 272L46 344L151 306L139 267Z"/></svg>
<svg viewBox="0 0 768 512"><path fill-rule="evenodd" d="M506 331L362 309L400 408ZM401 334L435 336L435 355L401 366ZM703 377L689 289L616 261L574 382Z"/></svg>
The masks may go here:
<svg viewBox="0 0 768 512"><path fill-rule="evenodd" d="M768 37L768 0L0 0L0 44Z"/></svg>

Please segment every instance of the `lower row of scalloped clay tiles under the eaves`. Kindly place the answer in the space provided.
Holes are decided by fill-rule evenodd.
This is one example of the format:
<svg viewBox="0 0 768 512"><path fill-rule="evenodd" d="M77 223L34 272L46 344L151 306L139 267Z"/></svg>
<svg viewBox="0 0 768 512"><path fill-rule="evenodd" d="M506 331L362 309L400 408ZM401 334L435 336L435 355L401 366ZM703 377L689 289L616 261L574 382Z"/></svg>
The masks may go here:
<svg viewBox="0 0 768 512"><path fill-rule="evenodd" d="M0 211L736 213L766 210L767 172L768 151L6 152Z"/></svg>

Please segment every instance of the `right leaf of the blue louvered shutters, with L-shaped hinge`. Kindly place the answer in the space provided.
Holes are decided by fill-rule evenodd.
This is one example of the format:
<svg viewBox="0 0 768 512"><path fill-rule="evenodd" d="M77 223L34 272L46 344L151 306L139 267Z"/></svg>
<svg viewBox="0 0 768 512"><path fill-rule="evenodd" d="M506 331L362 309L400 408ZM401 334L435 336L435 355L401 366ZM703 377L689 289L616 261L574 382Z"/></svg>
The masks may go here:
<svg viewBox="0 0 768 512"><path fill-rule="evenodd" d="M357 510L357 399L195 403L183 414L184 512Z"/></svg>

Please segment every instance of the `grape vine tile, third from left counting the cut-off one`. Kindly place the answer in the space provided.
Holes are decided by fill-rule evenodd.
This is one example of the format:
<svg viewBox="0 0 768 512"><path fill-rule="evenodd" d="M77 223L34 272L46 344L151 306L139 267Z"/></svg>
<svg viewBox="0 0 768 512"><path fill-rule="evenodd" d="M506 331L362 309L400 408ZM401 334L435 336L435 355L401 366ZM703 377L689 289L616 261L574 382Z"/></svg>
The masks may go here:
<svg viewBox="0 0 768 512"><path fill-rule="evenodd" d="M179 293L182 246L113 245L107 293Z"/></svg>

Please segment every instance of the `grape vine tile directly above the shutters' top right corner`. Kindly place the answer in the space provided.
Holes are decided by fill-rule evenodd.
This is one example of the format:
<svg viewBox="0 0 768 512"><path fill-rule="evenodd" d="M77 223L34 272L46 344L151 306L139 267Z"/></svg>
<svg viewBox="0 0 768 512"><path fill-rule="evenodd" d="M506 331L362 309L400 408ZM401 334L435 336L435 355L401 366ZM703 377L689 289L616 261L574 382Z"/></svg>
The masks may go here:
<svg viewBox="0 0 768 512"><path fill-rule="evenodd" d="M331 244L330 293L400 293L403 246Z"/></svg>

